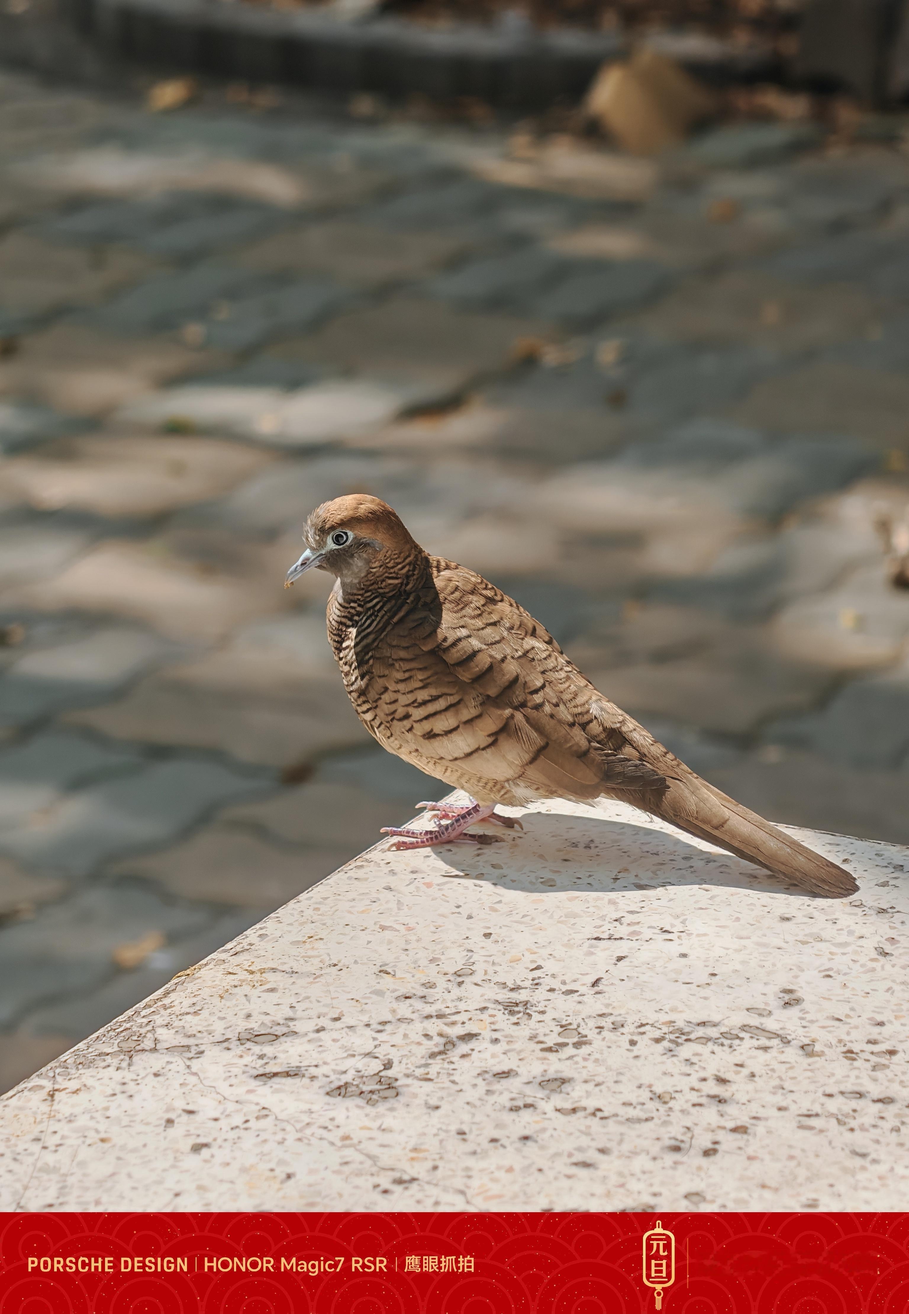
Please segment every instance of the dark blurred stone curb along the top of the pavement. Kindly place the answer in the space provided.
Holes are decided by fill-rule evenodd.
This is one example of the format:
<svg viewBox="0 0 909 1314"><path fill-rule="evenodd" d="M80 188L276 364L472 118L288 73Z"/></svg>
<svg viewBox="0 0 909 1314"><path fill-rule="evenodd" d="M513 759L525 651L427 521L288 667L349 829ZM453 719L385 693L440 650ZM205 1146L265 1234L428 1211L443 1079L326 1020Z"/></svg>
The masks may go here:
<svg viewBox="0 0 909 1314"><path fill-rule="evenodd" d="M239 0L59 0L59 7L108 57L134 63L335 96L476 97L514 110L578 101L600 64L627 51L608 33L432 30L395 17L344 22L318 12L254 9ZM776 71L768 57L699 54L684 38L678 58L713 84Z"/></svg>

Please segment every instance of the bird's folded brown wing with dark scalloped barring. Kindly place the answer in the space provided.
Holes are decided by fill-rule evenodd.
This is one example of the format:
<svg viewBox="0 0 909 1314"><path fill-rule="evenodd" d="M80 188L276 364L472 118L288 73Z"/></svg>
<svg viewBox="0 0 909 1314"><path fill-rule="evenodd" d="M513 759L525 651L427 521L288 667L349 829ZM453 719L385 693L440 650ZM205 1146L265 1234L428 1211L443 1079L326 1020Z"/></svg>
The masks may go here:
<svg viewBox="0 0 909 1314"><path fill-rule="evenodd" d="M433 568L432 623L412 614L373 653L370 694L389 746L416 746L430 773L457 765L528 795L595 798L665 783L607 725L600 704L612 704L523 607L464 566Z"/></svg>

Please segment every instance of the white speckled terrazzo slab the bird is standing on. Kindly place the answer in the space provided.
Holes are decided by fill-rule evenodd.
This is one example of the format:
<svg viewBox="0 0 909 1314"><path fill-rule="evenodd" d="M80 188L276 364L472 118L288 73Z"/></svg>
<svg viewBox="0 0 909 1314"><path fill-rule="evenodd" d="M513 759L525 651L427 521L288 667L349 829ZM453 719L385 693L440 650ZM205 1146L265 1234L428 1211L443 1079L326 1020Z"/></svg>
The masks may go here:
<svg viewBox="0 0 909 1314"><path fill-rule="evenodd" d="M0 1100L0 1209L909 1208L909 850L369 850ZM500 833L500 832L499 832Z"/></svg>

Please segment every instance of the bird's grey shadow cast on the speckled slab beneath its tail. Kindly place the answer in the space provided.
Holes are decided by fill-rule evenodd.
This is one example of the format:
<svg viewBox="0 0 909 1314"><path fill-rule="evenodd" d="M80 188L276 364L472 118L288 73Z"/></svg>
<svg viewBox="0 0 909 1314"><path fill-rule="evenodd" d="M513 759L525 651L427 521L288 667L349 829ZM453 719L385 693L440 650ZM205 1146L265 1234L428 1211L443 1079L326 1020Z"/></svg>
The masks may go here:
<svg viewBox="0 0 909 1314"><path fill-rule="evenodd" d="M683 834L611 821L594 813L528 812L521 830L498 832L500 842L448 845L435 851L449 878L468 878L527 894L661 890L713 886L816 899L784 876L742 858L707 853ZM490 832L487 832L490 833Z"/></svg>

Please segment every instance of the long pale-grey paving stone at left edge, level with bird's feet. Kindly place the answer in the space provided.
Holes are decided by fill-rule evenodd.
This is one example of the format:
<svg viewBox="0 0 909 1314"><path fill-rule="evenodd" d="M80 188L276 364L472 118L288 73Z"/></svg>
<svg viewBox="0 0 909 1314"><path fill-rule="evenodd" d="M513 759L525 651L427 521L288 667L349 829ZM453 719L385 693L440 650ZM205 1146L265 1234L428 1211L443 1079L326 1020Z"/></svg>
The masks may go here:
<svg viewBox="0 0 909 1314"><path fill-rule="evenodd" d="M273 787L261 773L243 775L204 758L154 762L76 790L38 821L0 830L0 851L42 871L87 876L112 858L171 844L214 808Z"/></svg>

